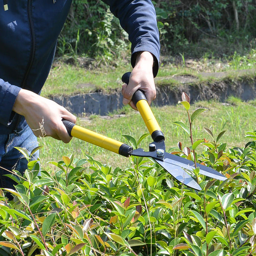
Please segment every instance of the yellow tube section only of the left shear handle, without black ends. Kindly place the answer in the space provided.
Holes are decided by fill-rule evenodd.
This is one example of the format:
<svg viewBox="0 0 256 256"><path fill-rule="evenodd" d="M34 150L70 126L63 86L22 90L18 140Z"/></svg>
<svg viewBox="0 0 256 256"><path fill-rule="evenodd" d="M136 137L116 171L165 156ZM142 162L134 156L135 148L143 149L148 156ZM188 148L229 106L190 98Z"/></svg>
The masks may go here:
<svg viewBox="0 0 256 256"><path fill-rule="evenodd" d="M123 145L122 142L108 138L100 133L93 132L79 125L72 128L71 136L80 140L87 141L101 148L108 149L119 154L119 148Z"/></svg>

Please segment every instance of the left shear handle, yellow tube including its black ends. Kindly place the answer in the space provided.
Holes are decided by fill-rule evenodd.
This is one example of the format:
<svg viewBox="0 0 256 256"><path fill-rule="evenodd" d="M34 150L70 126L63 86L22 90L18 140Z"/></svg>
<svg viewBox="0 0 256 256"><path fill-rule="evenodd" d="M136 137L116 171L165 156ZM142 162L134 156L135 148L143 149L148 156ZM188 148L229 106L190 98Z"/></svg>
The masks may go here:
<svg viewBox="0 0 256 256"><path fill-rule="evenodd" d="M124 144L118 140L113 140L107 136L104 136L100 133L93 132L84 127L76 125L68 120L62 120L65 125L69 136L76 137L80 140L92 143L101 148L108 149L114 153L117 153L122 156L129 156L132 153L132 147Z"/></svg>

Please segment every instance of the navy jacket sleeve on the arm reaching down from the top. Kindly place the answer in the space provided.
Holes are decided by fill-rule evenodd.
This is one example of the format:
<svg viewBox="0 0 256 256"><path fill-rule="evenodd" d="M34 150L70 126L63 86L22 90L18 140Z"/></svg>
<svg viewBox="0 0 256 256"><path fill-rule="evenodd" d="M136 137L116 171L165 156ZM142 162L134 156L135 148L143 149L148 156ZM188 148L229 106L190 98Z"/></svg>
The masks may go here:
<svg viewBox="0 0 256 256"><path fill-rule="evenodd" d="M160 43L156 12L151 0L102 0L119 19L120 25L129 35L132 43L132 67L136 52L148 51L154 55L153 75L159 68Z"/></svg>

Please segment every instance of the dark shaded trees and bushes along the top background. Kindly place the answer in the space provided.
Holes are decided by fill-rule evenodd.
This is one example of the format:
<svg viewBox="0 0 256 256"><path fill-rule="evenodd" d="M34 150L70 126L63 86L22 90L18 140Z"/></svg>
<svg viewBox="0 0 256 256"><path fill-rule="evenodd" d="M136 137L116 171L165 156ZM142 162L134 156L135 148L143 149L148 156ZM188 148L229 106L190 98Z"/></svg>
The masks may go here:
<svg viewBox="0 0 256 256"><path fill-rule="evenodd" d="M255 44L254 0L156 0L162 54L243 52ZM118 19L99 0L74 0L59 40L58 54L78 53L111 60L128 49ZM218 48L218 45L221 47ZM239 46L240 45L240 46ZM217 48L216 48L217 47Z"/></svg>

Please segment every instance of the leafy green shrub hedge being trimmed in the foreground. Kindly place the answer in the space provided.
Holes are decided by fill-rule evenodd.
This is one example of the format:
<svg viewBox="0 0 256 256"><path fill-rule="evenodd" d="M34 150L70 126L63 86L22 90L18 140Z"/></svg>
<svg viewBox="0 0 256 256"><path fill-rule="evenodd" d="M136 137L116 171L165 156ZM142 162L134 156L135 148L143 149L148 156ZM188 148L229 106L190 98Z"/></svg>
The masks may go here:
<svg viewBox="0 0 256 256"><path fill-rule="evenodd" d="M180 103L192 128L204 109L190 116L185 93ZM0 255L255 255L256 131L247 132L244 148L220 143L225 131L217 137L205 131L207 139L193 143L187 132L191 146L171 149L226 175L210 180L195 170L201 191L178 183L151 158L131 156L130 166L113 170L71 154L49 162L52 169L40 176L38 161L29 161L23 177L15 172L20 180L8 175L16 189L0 190Z"/></svg>

